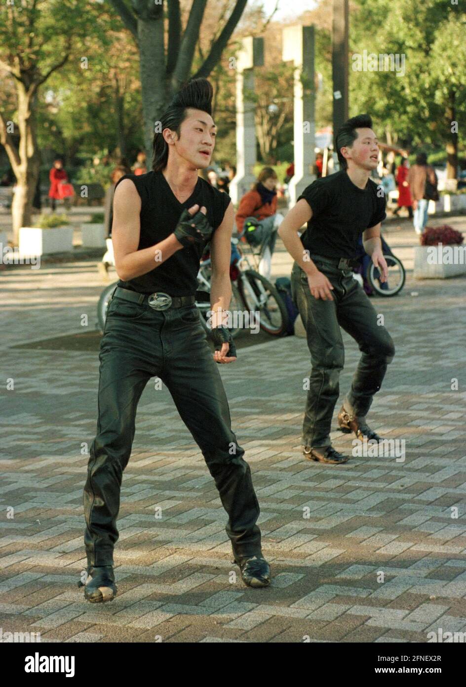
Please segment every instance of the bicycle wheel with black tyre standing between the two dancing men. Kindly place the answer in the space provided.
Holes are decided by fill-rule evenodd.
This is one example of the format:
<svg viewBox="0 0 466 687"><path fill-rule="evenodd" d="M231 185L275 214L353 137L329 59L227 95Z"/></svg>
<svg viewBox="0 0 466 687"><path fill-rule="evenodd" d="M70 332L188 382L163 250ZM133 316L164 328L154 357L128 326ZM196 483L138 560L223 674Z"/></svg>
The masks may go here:
<svg viewBox="0 0 466 687"><path fill-rule="evenodd" d="M275 337L283 335L288 327L288 313L275 286L253 269L241 273L238 286L250 317L259 313L261 330Z"/></svg>

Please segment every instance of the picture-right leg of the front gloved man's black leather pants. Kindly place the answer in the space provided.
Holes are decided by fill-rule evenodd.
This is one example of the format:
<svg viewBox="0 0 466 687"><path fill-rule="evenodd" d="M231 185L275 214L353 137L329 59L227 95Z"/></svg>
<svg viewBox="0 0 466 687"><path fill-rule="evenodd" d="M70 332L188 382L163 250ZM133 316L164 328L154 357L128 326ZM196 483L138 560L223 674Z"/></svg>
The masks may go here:
<svg viewBox="0 0 466 687"><path fill-rule="evenodd" d="M161 377L215 481L228 515L226 534L235 559L259 555L261 532L256 522L260 510L251 469L231 430L220 365L213 360L198 317L191 324L179 318L167 322L163 341L169 348Z"/></svg>

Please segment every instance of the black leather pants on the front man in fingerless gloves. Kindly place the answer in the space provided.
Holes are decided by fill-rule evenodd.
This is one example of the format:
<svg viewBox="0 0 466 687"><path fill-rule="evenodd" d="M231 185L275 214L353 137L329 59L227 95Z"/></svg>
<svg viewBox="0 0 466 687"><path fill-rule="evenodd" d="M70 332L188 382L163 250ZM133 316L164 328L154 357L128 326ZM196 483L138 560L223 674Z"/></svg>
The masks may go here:
<svg viewBox="0 0 466 687"><path fill-rule="evenodd" d="M231 431L228 402L195 306L154 311L113 297L100 346L97 435L84 486L88 565L113 565L123 471L139 398L152 376L172 394L204 455L228 514L233 554L261 553L259 504L244 450ZM233 363L234 364L234 363ZM163 415L154 417L154 441Z"/></svg>

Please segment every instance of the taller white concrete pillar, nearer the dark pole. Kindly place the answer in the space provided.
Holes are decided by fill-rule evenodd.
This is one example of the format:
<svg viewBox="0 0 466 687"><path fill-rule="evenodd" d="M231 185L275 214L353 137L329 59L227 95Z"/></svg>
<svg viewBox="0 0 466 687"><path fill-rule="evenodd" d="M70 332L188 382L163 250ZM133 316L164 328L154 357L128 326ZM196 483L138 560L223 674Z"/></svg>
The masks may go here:
<svg viewBox="0 0 466 687"><path fill-rule="evenodd" d="M289 185L290 207L310 185L316 174L314 26L288 26L283 29L283 61L294 63L294 177Z"/></svg>

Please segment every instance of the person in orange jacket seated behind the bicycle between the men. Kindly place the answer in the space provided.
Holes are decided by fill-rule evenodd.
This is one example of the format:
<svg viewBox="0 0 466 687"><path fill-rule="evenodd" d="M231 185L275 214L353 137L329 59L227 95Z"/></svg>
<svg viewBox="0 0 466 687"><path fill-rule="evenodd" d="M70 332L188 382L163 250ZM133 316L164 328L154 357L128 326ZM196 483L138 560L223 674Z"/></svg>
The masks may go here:
<svg viewBox="0 0 466 687"><path fill-rule="evenodd" d="M251 245L260 245L259 274L267 279L270 278L272 254L277 241L277 229L283 222L283 215L277 213L276 185L277 174L275 170L271 167L264 167L257 177L257 183L251 191L242 197L236 213L238 234L246 229L245 237L248 238ZM255 229L251 227L252 232L247 231L250 221L256 225Z"/></svg>

